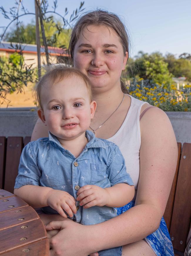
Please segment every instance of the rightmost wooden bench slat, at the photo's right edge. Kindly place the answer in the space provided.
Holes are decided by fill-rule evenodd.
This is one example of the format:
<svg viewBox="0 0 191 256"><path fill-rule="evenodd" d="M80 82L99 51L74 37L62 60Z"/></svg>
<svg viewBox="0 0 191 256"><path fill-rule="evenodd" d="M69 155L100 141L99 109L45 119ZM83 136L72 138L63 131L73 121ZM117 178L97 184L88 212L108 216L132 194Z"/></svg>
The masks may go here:
<svg viewBox="0 0 191 256"><path fill-rule="evenodd" d="M180 159L174 209L170 228L173 247L184 252L191 216L191 143L184 143Z"/></svg>

